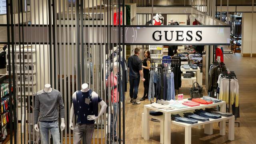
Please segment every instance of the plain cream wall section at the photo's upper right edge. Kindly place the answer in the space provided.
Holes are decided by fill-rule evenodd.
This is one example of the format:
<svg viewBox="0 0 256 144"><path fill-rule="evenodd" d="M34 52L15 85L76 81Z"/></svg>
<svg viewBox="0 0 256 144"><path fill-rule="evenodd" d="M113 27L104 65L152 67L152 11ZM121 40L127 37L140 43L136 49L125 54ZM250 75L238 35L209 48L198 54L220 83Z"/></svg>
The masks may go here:
<svg viewBox="0 0 256 144"><path fill-rule="evenodd" d="M256 13L243 13L242 22L242 54L256 56Z"/></svg>

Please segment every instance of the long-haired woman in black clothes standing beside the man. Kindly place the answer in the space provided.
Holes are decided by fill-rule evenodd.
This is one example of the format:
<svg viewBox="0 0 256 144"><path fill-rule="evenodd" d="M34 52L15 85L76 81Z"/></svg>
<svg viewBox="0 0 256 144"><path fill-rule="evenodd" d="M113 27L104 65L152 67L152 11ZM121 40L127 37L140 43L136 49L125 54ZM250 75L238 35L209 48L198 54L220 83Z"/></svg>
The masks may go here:
<svg viewBox="0 0 256 144"><path fill-rule="evenodd" d="M144 95L140 99L140 101L143 101L146 98L148 98L149 70L150 70L150 61L151 61L149 50L144 51L144 57L145 58L144 58L143 63L142 63L143 75L144 75L144 78L145 78L145 81L143 83L143 85L144 85Z"/></svg>

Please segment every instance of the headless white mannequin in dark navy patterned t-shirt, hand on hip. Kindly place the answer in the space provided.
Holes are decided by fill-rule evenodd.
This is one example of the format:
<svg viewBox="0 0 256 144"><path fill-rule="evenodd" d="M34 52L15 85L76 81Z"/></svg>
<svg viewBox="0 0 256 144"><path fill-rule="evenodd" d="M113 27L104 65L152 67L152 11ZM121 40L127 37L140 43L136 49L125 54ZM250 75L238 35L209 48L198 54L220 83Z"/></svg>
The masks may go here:
<svg viewBox="0 0 256 144"><path fill-rule="evenodd" d="M79 100L82 100L82 102L79 102ZM94 105L95 100L97 100L96 105ZM98 109L94 109L98 108L98 104L101 106L99 113ZM70 129L74 130L73 144L78 144L82 140L82 135L84 133L86 135L86 143L91 143L94 132L94 120L100 117L106 111L106 108L106 103L98 97L96 92L93 92L88 88L88 84L82 84L82 89L74 92L72 95L69 124ZM73 126L74 116L78 117L75 127Z"/></svg>

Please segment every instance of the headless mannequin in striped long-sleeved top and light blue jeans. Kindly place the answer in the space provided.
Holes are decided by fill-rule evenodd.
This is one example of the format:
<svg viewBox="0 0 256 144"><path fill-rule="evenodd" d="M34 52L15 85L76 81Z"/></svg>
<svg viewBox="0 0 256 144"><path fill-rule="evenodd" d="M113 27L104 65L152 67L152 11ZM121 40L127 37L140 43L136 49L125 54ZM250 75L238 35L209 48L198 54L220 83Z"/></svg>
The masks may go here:
<svg viewBox="0 0 256 144"><path fill-rule="evenodd" d="M61 117L60 129L65 128L65 109L62 100L62 94L55 89L51 88L50 84L45 84L44 89L36 92L34 104L34 129L36 132L40 131L42 143L48 144L49 130L52 134L54 144L60 144L60 132L58 129L58 103ZM38 128L38 117L39 125Z"/></svg>

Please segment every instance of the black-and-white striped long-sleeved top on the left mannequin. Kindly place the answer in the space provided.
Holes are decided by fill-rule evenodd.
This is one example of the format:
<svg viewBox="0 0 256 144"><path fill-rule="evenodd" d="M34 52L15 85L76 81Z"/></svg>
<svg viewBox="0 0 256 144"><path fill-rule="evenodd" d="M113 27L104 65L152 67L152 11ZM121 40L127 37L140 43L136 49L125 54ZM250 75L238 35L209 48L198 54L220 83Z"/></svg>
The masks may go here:
<svg viewBox="0 0 256 144"><path fill-rule="evenodd" d="M59 112L58 112L59 110ZM34 124L37 124L38 116L39 121L56 121L59 118L65 117L64 103L62 94L52 88L52 92L44 92L40 90L36 92L34 102Z"/></svg>

